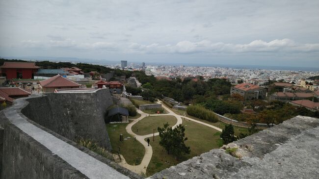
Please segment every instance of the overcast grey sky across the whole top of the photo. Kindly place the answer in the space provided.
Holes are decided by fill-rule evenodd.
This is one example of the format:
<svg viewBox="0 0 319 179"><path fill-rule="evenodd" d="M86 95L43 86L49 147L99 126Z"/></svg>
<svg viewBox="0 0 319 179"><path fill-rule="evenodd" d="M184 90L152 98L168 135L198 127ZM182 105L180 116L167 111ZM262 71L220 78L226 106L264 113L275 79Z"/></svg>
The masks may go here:
<svg viewBox="0 0 319 179"><path fill-rule="evenodd" d="M0 0L0 56L319 67L319 0Z"/></svg>

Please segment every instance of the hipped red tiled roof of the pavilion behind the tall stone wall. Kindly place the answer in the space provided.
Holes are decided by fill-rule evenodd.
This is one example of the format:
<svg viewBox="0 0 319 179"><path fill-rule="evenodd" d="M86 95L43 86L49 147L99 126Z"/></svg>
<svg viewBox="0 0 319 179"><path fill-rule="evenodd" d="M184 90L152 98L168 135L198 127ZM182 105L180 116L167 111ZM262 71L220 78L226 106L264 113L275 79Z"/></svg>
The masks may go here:
<svg viewBox="0 0 319 179"><path fill-rule="evenodd" d="M62 77L60 75L51 77L49 79L45 79L43 81L40 81L40 84L42 87L75 87L75 86L81 86L80 84L67 79L65 77Z"/></svg>

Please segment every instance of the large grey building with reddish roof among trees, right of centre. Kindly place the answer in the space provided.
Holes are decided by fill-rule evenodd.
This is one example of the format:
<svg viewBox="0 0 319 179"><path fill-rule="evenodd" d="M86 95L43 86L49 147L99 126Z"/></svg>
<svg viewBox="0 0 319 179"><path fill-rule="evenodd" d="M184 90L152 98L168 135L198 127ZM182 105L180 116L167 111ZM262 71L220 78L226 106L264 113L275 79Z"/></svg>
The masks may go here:
<svg viewBox="0 0 319 179"><path fill-rule="evenodd" d="M254 84L241 83L231 87L230 94L239 94L244 99L265 99L266 89Z"/></svg>

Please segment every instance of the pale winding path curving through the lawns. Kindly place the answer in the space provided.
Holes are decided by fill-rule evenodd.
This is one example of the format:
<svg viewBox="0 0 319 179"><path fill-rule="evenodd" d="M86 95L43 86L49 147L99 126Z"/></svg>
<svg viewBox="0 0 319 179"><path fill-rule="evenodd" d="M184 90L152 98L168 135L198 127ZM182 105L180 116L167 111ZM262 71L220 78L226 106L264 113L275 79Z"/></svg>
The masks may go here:
<svg viewBox="0 0 319 179"><path fill-rule="evenodd" d="M157 103L160 103L162 104L161 102L157 102ZM141 114L141 117L137 118L137 119L133 119L133 122L130 123L129 125L127 125L126 127L126 131L131 134L133 137L136 137L136 140L139 141L145 148L145 154L144 154L144 157L141 161L141 163L139 165L130 165L128 164L125 159L122 159L122 162L119 163L120 165L122 165L123 167L137 173L137 174L140 174L140 173L146 173L146 168L148 166L148 164L150 163L151 161L151 158L152 158L152 155L153 155L153 150L152 150L152 146L147 146L147 142L144 140L145 138L147 137L152 137L153 134L148 134L148 135L137 135L135 134L133 131L132 131L132 127L135 123L137 123L139 120L142 120L143 118L147 117L147 116L160 116L160 115L171 115L171 116L174 116L176 117L177 119L177 123L172 127L172 128L175 128L176 126L180 125L183 123L183 120L182 118L185 118L187 120L190 120L190 121L193 121L195 123L199 123L199 124L202 124L204 126L207 126L207 127L210 127L210 128L213 128L215 130L218 130L218 131L222 131L221 128L217 128L215 126L212 126L212 125L209 125L209 124L206 124L206 123L203 123L203 122L200 122L200 121L197 121L197 120L194 120L194 119L191 119L191 118L188 118L188 117L185 117L185 116L181 116L181 115L178 115L176 113L174 113L171 109L169 109L168 107L166 107L165 105L162 104L162 107L168 111L168 113L166 114L147 114L147 113L144 113L143 111L139 110L139 109L136 109L137 112L139 114ZM154 134L155 136L159 135L159 132L155 133ZM122 155L121 155L122 158L124 158Z"/></svg>

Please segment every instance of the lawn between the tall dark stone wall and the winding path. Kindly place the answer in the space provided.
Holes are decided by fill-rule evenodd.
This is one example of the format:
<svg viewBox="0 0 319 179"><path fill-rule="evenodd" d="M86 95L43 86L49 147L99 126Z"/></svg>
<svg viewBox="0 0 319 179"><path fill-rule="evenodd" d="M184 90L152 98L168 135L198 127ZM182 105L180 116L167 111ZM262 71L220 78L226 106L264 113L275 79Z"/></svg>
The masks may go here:
<svg viewBox="0 0 319 179"><path fill-rule="evenodd" d="M140 164L145 154L145 148L137 140L134 141L132 135L126 132L125 128L127 125L128 123L106 124L109 140L111 142L113 150L118 151L118 148L121 147L120 153L124 156L128 164ZM123 134L124 138L131 138L127 138L127 140L120 142L120 134ZM139 163L135 163L136 157L138 158Z"/></svg>

